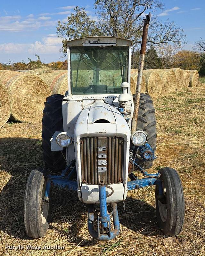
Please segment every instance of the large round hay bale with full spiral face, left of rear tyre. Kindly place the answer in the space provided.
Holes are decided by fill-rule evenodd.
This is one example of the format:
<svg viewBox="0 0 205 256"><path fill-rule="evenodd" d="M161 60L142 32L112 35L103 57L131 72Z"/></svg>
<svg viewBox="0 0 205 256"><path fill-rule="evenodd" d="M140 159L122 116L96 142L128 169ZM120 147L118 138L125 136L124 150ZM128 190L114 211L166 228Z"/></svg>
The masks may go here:
<svg viewBox="0 0 205 256"><path fill-rule="evenodd" d="M9 91L13 120L25 122L42 117L44 102L51 90L41 78L10 71L0 74L0 82Z"/></svg>

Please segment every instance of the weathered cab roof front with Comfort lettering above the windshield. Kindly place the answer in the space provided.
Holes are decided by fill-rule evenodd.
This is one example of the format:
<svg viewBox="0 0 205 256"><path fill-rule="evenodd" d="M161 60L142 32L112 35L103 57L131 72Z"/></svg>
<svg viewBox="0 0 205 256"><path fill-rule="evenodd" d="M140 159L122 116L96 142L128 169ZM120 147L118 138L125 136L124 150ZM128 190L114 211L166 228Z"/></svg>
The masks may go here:
<svg viewBox="0 0 205 256"><path fill-rule="evenodd" d="M132 46L132 41L112 36L92 36L67 41L66 46Z"/></svg>

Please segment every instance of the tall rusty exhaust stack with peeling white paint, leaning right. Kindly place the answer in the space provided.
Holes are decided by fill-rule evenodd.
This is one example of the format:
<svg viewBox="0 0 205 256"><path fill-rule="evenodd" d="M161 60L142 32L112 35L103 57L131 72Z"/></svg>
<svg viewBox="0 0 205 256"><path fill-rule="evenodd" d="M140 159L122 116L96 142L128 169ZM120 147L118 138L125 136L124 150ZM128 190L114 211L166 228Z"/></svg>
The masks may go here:
<svg viewBox="0 0 205 256"><path fill-rule="evenodd" d="M141 91L141 84L142 84L142 73L144 68L144 57L146 52L146 44L147 44L147 34L148 34L148 27L150 22L150 16L149 13L146 15L146 19L143 19L143 33L142 33L142 44L141 44L141 50L140 50L140 62L139 62L139 69L138 69L138 76L137 76L137 86L136 86L136 92L135 92L135 108L133 113L133 119L132 119L132 134L137 129L137 116L138 116L138 110L139 110L139 102L140 102L140 91Z"/></svg>

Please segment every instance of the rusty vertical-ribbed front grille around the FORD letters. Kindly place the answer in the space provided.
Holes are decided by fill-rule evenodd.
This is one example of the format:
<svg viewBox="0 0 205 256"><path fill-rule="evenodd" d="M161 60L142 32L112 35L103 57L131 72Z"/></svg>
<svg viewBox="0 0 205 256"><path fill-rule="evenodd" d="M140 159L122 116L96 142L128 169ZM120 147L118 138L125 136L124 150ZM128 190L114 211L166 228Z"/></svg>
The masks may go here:
<svg viewBox="0 0 205 256"><path fill-rule="evenodd" d="M100 149L100 151L99 151ZM101 158L101 155L103 158ZM106 155L106 158L105 158ZM85 137L80 139L82 180L98 184L98 168L106 167L105 183L117 184L123 176L124 139L119 137ZM100 157L100 158L99 158ZM106 160L106 165L101 165ZM105 162L103 163L105 164Z"/></svg>

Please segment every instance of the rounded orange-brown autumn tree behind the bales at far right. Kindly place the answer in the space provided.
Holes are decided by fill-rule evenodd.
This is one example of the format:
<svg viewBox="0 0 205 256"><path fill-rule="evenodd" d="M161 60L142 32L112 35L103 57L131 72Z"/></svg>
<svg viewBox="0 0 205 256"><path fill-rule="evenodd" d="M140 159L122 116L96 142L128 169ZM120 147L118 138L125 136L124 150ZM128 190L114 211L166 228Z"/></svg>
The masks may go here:
<svg viewBox="0 0 205 256"><path fill-rule="evenodd" d="M200 59L196 57L195 51L181 50L178 51L173 57L174 68L180 69L199 69Z"/></svg>

